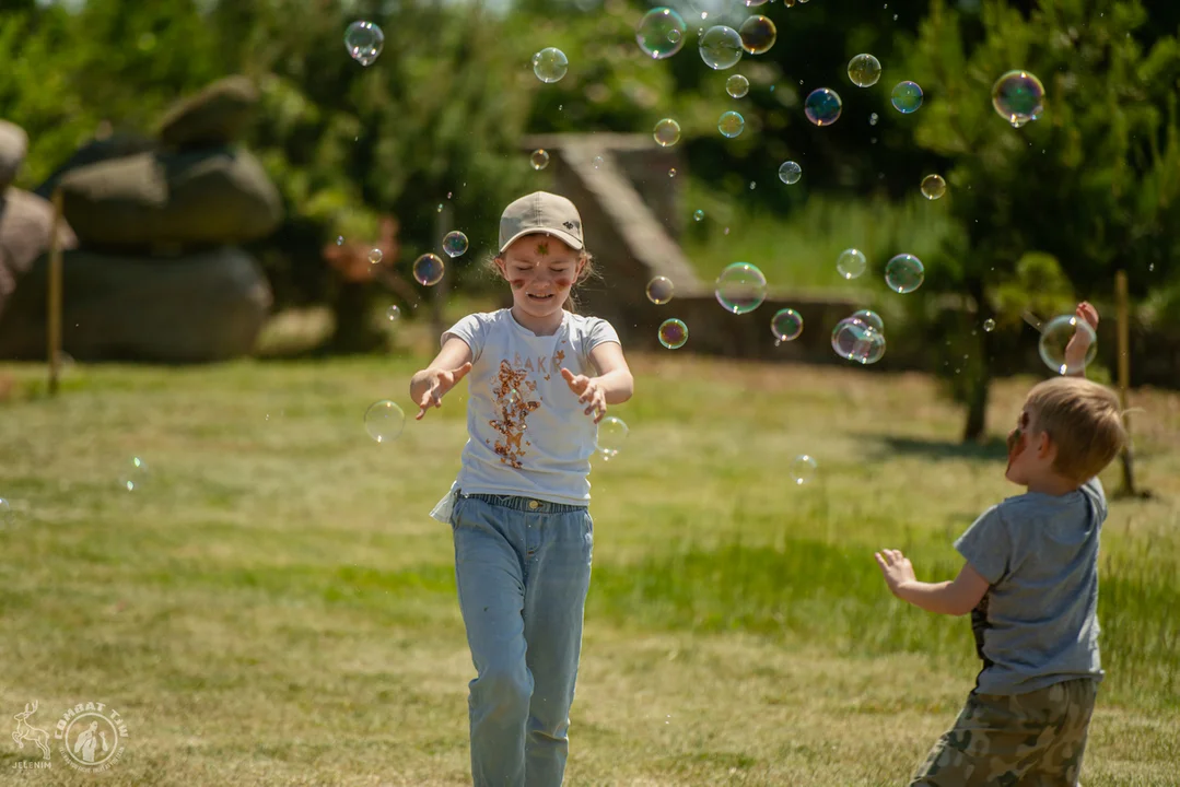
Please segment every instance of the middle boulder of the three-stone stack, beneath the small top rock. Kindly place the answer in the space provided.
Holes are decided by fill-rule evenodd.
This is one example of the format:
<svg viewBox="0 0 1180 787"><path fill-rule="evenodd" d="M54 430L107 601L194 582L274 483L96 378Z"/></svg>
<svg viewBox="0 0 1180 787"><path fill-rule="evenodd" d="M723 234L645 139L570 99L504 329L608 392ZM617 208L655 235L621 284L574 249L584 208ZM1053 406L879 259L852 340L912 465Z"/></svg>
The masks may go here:
<svg viewBox="0 0 1180 787"><path fill-rule="evenodd" d="M282 198L245 150L148 152L76 169L61 178L66 221L81 244L153 251L236 244L282 222Z"/></svg>

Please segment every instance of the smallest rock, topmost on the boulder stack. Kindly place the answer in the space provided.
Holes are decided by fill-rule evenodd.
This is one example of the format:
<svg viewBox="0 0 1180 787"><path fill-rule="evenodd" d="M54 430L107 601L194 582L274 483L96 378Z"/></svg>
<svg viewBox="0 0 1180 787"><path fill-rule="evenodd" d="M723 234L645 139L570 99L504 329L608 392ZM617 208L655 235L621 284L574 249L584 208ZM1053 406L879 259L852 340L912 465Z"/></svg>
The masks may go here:
<svg viewBox="0 0 1180 787"><path fill-rule="evenodd" d="M228 145L245 132L257 103L258 90L249 78L218 79L173 104L160 120L159 138L171 147Z"/></svg>

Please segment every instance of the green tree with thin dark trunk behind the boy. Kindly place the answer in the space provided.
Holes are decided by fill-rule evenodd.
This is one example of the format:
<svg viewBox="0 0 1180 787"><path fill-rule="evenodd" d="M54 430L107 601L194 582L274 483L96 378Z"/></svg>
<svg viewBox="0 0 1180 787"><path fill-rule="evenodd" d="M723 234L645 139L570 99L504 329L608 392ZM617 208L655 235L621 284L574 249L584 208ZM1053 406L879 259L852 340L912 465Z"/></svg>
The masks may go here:
<svg viewBox="0 0 1180 787"><path fill-rule="evenodd" d="M1014 311L1011 293L1036 295L1028 282L1012 287L1044 270L1043 260L1018 267L1028 253L1050 255L1075 291L1095 297L1119 268L1141 295L1180 251L1180 47L1161 37L1145 48L1133 33L1146 20L1138 0L1038 0L1028 14L984 0L974 27L945 0L931 1L911 59L927 96L914 139L949 162L963 232L925 287L966 294L975 327L996 316L1002 288ZM1001 74L1022 68L1043 79L1045 109L1015 129L990 97ZM984 432L996 362L992 334L975 333L974 362L956 386L966 440Z"/></svg>

